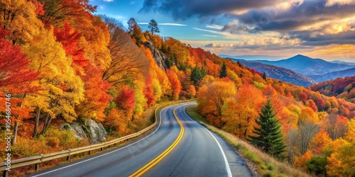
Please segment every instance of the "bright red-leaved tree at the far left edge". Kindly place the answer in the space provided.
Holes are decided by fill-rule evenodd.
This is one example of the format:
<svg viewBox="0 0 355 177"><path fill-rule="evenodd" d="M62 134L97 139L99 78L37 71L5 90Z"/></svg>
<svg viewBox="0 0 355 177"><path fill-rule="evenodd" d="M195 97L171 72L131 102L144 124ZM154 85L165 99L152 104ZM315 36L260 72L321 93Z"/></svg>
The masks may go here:
<svg viewBox="0 0 355 177"><path fill-rule="evenodd" d="M9 30L0 29L0 100L5 103L5 96L1 93L7 92L12 95L11 103L14 104L11 106L11 114L15 116L13 131L13 144L15 144L18 124L23 118L28 118L31 111L24 108L24 99L27 93L33 93L40 88L31 86L31 83L38 79L38 73L29 68L30 61L23 55L20 47L13 46L11 42L5 40L9 33ZM16 102L20 102L20 105Z"/></svg>

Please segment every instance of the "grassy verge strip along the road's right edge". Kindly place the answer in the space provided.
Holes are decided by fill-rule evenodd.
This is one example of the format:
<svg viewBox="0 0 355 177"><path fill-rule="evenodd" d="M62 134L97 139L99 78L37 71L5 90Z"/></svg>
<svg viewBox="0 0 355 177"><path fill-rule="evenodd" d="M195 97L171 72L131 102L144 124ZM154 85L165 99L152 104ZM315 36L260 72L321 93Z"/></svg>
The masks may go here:
<svg viewBox="0 0 355 177"><path fill-rule="evenodd" d="M244 142L237 138L234 135L231 135L228 132L224 132L223 130L219 130L217 127L211 126L208 124L207 120L204 119L201 115L197 113L197 105L190 105L186 108L186 113L190 115L191 118L197 120L201 125L207 127L212 132L216 133L223 139L225 139L229 144L231 144L236 152L246 159L246 161L250 161L252 166L255 167L256 172L260 176L311 176L305 171L301 171L300 169L296 169L290 164L283 163L273 158L269 154L261 152L261 150L253 147L248 142Z"/></svg>

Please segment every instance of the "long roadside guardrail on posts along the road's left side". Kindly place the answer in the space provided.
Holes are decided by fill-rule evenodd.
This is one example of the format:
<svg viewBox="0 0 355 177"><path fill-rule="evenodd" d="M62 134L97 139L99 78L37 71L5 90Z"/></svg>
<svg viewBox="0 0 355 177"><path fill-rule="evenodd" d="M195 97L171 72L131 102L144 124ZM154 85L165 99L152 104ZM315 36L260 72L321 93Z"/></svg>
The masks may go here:
<svg viewBox="0 0 355 177"><path fill-rule="evenodd" d="M178 102L178 103L181 103L181 102ZM158 114L157 114L158 109L162 108L163 106L170 105L170 104L172 104L172 103L161 105L158 108L156 108L155 113L154 113L155 114L154 123L139 132L133 133L131 135L127 135L125 137L120 137L118 139L112 139L108 142L102 142L99 144L92 144L87 147L78 147L75 149L63 150L61 152L53 152L50 154L40 154L38 156L30 156L30 157L26 157L23 159L12 160L11 161L11 169L16 169L16 168L22 167L22 166L35 165L35 171L38 171L39 164L42 162L50 161L53 159L59 159L59 158L65 157L65 156L67 157L67 160L70 160L70 156L72 156L72 155L80 154L80 153L84 153L84 152L88 152L88 154L91 154L91 152L93 150L97 150L97 149L104 150L105 147L110 147L112 145L115 146L116 144L120 144L121 142L128 141L129 139L132 139L134 137L139 137L139 136L143 135L144 133L148 132L149 130L151 130L153 127L155 127L155 125L158 122ZM8 166L6 165L6 161L1 162L0 163L0 171L4 171L4 177L9 176L9 171L7 171L6 168L8 168Z"/></svg>

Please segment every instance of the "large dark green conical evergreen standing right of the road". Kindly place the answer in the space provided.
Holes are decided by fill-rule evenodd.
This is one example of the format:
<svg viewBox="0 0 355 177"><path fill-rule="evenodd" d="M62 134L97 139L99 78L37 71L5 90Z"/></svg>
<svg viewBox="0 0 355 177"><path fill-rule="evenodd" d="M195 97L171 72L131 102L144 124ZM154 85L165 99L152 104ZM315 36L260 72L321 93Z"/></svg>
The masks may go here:
<svg viewBox="0 0 355 177"><path fill-rule="evenodd" d="M280 122L275 118L270 100L263 105L259 115L260 118L255 120L259 127L254 126L255 130L253 130L256 136L249 135L249 141L264 152L281 158L286 146L283 142Z"/></svg>

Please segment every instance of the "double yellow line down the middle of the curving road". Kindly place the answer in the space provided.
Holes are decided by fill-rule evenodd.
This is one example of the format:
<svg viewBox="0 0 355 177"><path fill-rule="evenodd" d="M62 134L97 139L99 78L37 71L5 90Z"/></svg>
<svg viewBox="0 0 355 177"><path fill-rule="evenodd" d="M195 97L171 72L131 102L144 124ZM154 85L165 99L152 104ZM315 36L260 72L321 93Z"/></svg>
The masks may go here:
<svg viewBox="0 0 355 177"><path fill-rule="evenodd" d="M180 106L179 106L180 107ZM179 108L177 107L177 108ZM164 159L165 156L167 156L175 147L176 145L178 145L178 143L180 142L180 140L182 139L182 135L184 135L184 126L182 126L182 123L180 122L178 116L175 114L175 110L177 109L175 108L173 110L175 119L178 120L178 123L180 125L180 134L178 136L178 138L175 139L175 142L173 142L173 144L170 145L170 147L168 147L168 149L165 149L165 151L163 153L161 153L159 156L155 157L152 161L150 161L148 164L146 164L145 166L143 166L141 169L139 169L138 171L134 172L133 174L131 174L129 177L131 176L141 176L143 175L143 173L146 173L146 171L148 171L149 169L151 169L153 166L155 166L155 164L158 164L159 161L161 161L162 159ZM160 120L161 121L161 120Z"/></svg>

